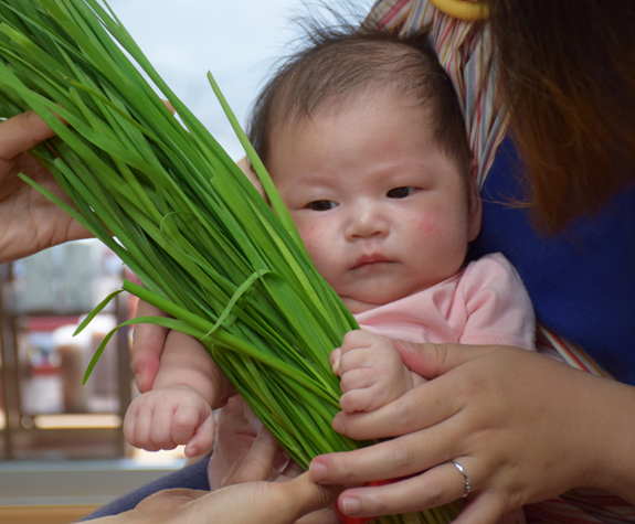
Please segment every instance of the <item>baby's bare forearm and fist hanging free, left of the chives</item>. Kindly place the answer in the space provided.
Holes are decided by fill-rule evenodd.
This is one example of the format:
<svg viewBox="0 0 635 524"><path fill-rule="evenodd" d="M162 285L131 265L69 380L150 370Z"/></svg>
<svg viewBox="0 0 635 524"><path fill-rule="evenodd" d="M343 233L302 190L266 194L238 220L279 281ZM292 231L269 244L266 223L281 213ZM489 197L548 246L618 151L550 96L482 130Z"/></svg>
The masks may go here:
<svg viewBox="0 0 635 524"><path fill-rule="evenodd" d="M137 397L124 420L128 442L149 451L186 446L186 456L208 451L214 438L211 403L214 365L194 339L172 331L152 389Z"/></svg>

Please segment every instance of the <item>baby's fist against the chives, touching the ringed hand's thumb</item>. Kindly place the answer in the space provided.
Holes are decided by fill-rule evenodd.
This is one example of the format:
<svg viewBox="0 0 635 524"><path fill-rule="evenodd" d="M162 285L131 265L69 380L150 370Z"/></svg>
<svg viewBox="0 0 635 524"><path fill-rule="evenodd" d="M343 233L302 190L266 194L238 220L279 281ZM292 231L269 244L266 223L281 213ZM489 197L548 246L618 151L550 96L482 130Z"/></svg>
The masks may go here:
<svg viewBox="0 0 635 524"><path fill-rule="evenodd" d="M341 377L339 405L346 413L373 411L413 387L392 340L368 331L348 332L332 351L330 365Z"/></svg>

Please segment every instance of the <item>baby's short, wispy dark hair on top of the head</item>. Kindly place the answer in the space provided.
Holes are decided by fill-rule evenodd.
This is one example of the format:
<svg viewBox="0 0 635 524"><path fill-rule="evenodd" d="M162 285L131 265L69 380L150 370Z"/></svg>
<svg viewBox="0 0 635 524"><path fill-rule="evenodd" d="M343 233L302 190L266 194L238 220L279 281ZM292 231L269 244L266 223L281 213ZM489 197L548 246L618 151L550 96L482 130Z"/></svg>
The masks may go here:
<svg viewBox="0 0 635 524"><path fill-rule="evenodd" d="M422 126L435 126L438 146L462 172L469 171L458 98L427 32L402 38L364 25L311 23L305 31L304 47L278 67L252 108L247 135L265 165L275 127L310 119L352 96L392 88L395 96L430 111L432 121Z"/></svg>

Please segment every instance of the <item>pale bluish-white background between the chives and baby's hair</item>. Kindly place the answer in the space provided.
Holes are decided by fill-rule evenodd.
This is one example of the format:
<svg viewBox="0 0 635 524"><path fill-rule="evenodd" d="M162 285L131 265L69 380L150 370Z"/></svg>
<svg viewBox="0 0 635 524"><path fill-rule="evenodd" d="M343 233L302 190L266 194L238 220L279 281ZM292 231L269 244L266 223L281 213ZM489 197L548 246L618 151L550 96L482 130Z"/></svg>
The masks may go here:
<svg viewBox="0 0 635 524"><path fill-rule="evenodd" d="M336 1L328 2L336 4ZM362 11L372 0L356 0ZM234 159L244 153L215 101L211 71L239 121L285 43L301 0L110 0L152 65Z"/></svg>

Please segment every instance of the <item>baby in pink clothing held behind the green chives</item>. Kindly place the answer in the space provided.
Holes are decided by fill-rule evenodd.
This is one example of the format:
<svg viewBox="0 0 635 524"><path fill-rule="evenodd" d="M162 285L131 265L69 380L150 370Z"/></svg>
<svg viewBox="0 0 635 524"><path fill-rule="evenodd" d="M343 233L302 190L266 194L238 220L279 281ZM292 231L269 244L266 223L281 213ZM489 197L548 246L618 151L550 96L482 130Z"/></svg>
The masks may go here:
<svg viewBox="0 0 635 524"><path fill-rule="evenodd" d="M319 32L265 86L250 138L317 270L362 328L331 354L345 411L374 410L423 382L402 363L409 343L533 349L531 303L509 263L464 264L480 227L475 167L425 35ZM208 451L212 371L201 346L168 344L152 391L128 410L128 441ZM212 490L258 424L240 397L221 409Z"/></svg>

